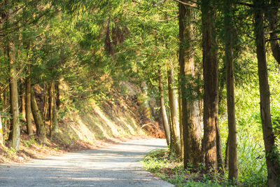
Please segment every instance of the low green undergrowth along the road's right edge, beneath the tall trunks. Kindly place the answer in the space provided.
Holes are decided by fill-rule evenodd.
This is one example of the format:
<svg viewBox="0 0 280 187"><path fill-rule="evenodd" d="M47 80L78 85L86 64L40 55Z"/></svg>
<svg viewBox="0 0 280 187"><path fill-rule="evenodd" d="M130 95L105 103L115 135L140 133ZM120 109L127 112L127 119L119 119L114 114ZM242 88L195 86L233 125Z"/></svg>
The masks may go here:
<svg viewBox="0 0 280 187"><path fill-rule="evenodd" d="M239 184L238 186L265 186L266 183L266 165L263 158L255 157L253 154L258 150L257 146L244 140L244 146L239 148ZM250 154L248 154L250 153ZM249 164L249 162L251 164ZM158 149L151 151L141 160L142 165L161 179L169 181L176 186L232 186L227 178L219 174L203 174L202 166L193 172L192 167L183 168L183 162L174 158L167 149Z"/></svg>

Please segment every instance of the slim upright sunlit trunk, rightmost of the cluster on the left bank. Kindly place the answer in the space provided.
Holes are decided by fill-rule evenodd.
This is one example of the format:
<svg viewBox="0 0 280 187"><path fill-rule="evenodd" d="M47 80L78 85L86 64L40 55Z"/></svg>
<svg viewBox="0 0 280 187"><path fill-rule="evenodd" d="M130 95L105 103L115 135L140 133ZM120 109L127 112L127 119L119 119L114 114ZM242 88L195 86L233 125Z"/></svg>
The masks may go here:
<svg viewBox="0 0 280 187"><path fill-rule="evenodd" d="M56 102L57 100L55 99L55 80L52 80L50 83L50 137L52 137L53 133L58 132L58 127L57 127L57 105Z"/></svg>

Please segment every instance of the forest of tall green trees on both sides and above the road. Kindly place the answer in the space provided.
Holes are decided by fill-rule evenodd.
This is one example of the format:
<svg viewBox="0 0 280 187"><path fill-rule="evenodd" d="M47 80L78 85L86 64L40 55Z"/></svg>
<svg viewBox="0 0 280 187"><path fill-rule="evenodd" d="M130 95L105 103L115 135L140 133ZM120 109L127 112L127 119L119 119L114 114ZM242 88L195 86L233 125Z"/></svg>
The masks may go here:
<svg viewBox="0 0 280 187"><path fill-rule="evenodd" d="M169 145L146 156L150 171L166 175L173 165L169 180L179 186L280 185L280 1L3 0L0 8L1 147L19 151L22 134L48 144L63 134L66 113L116 102L130 83Z"/></svg>

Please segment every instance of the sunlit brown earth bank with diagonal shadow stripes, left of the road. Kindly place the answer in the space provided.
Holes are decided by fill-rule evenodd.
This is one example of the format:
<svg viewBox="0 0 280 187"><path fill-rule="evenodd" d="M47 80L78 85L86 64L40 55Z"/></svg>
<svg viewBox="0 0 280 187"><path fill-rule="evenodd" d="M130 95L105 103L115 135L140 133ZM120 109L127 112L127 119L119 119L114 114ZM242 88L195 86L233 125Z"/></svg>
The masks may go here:
<svg viewBox="0 0 280 187"><path fill-rule="evenodd" d="M59 133L52 135L52 141L48 137L46 145L38 144L36 137L29 139L25 125L22 125L20 151L0 148L0 162L24 162L65 151L99 148L137 137L164 137L158 123L146 117L146 109L139 100L139 88L132 89L127 85L126 95L120 90L112 92L112 97L102 102L87 99L76 108L64 106ZM45 127L48 131L48 122Z"/></svg>

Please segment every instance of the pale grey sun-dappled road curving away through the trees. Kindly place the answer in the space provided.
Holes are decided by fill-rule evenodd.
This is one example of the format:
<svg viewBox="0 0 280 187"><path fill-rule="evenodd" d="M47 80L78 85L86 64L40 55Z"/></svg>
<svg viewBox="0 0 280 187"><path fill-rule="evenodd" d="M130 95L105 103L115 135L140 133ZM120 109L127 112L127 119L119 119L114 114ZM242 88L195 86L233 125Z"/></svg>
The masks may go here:
<svg viewBox="0 0 280 187"><path fill-rule="evenodd" d="M173 186L152 176L139 162L149 151L165 147L165 139L140 139L25 164L0 165L0 186Z"/></svg>

